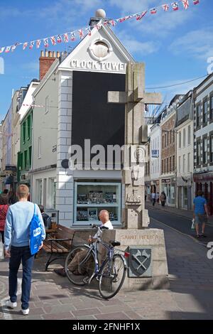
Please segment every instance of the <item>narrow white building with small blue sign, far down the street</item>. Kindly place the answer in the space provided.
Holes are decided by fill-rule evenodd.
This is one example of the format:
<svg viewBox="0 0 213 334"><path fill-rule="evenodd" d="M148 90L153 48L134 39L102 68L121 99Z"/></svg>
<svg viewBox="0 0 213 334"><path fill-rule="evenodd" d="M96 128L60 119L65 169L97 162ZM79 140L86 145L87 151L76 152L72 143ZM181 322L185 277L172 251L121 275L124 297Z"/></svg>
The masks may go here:
<svg viewBox="0 0 213 334"><path fill-rule="evenodd" d="M150 142L151 190L155 193L160 193L161 128L159 124L151 127Z"/></svg>

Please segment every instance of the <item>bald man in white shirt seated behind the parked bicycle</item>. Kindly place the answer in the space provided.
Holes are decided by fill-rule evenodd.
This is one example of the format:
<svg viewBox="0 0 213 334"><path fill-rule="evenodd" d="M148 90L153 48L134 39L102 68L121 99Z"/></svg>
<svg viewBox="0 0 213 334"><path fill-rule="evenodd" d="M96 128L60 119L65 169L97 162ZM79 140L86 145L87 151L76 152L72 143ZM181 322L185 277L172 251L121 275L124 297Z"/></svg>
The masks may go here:
<svg viewBox="0 0 213 334"><path fill-rule="evenodd" d="M104 227L108 227L109 230L113 230L114 227L111 225L111 221L109 220L109 212L107 210L101 210L99 212L99 219L101 220L102 222L102 226ZM91 244L92 242L95 241L95 239L97 239L97 237L102 237L102 230L99 230L95 235L94 237L89 237L88 239L88 242L89 244ZM69 264L69 269L70 271L72 272L75 272L77 273L77 271L79 271L79 268L78 268L78 264L82 261L82 259L84 259L84 257L87 255L87 251L85 250L81 250L80 252L78 252L75 257L73 257L72 261L70 262ZM60 268L60 269L54 269L53 270L56 274L60 275L60 276L66 276L66 273L65 273L65 268ZM80 273L82 274L82 272Z"/></svg>

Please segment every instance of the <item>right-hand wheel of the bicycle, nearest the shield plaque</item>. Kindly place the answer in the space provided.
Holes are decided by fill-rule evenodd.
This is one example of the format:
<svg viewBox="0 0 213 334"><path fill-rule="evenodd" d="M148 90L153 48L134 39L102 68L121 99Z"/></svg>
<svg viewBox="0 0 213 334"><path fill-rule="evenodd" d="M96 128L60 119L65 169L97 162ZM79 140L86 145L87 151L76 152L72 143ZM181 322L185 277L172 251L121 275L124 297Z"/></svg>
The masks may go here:
<svg viewBox="0 0 213 334"><path fill-rule="evenodd" d="M123 257L115 254L111 261L104 265L99 279L99 293L104 299L112 298L124 284L126 266Z"/></svg>

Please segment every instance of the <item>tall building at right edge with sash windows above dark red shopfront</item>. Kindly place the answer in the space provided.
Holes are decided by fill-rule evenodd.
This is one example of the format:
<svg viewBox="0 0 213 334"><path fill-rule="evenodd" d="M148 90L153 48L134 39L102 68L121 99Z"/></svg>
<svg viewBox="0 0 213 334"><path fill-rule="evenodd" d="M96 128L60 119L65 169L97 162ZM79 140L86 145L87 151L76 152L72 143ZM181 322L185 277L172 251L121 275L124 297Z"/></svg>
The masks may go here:
<svg viewBox="0 0 213 334"><path fill-rule="evenodd" d="M195 88L194 182L204 192L209 214L213 215L213 74Z"/></svg>

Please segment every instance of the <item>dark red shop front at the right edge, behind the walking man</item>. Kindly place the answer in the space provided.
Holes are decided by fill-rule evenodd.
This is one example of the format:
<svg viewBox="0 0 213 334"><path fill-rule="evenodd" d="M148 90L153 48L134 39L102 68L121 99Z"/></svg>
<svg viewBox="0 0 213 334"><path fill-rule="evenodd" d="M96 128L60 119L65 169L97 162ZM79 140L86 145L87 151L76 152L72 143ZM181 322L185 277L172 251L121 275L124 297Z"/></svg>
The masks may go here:
<svg viewBox="0 0 213 334"><path fill-rule="evenodd" d="M209 215L213 215L213 172L194 173L195 194L202 190L207 200Z"/></svg>

